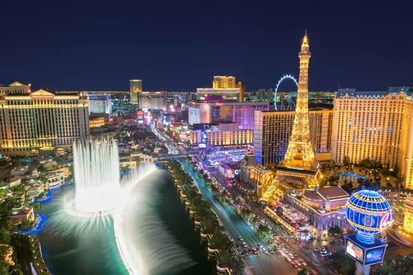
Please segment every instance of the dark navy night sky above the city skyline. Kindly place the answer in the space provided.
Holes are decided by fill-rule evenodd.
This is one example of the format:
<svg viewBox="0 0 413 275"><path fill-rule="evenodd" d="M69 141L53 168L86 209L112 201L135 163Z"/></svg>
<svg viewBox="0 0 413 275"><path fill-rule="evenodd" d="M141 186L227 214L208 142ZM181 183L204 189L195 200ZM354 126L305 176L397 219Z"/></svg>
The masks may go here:
<svg viewBox="0 0 413 275"><path fill-rule="evenodd" d="M0 83L127 91L142 79L144 91L195 91L229 75L269 89L298 78L308 29L310 91L413 85L412 7L269 2L2 1Z"/></svg>

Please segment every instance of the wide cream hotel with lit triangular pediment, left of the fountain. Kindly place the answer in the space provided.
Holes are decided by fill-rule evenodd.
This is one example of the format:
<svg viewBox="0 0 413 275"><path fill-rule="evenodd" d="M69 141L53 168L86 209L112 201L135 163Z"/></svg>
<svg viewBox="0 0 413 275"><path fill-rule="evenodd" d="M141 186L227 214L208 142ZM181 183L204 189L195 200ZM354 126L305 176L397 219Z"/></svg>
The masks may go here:
<svg viewBox="0 0 413 275"><path fill-rule="evenodd" d="M0 152L4 155L63 153L89 132L87 97L40 89L0 96Z"/></svg>

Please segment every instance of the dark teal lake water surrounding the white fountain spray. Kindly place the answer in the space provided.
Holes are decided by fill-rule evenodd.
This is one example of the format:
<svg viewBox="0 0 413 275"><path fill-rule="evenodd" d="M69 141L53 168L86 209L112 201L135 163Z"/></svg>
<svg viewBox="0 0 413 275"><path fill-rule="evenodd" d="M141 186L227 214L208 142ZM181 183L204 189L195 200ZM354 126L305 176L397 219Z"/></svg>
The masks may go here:
<svg viewBox="0 0 413 275"><path fill-rule="evenodd" d="M184 248L193 261L193 265L175 274L216 274L215 261L209 259L207 242L200 238L200 230L195 229L189 211L181 201L176 187L173 185L167 170L158 169L145 178L145 181L159 185L159 199L156 202L155 212L176 239L176 243ZM65 195L74 191L74 186L64 186L52 191L52 199L43 204L39 211L46 217L41 231L35 232L39 238L45 263L52 274L127 274L127 270L120 259L112 221L105 228L78 232L76 228L60 228L52 222L56 213L61 212L62 201ZM131 195L138 195L135 189ZM130 206L139 211L139 206ZM162 248L161 248L162 249ZM162 274L171 274L162 272Z"/></svg>

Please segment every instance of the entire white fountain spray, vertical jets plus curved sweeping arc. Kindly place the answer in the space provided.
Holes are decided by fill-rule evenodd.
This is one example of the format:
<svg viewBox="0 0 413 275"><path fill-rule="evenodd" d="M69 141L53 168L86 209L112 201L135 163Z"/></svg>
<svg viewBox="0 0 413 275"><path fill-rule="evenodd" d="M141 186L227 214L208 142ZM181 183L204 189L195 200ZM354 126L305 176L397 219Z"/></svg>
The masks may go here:
<svg viewBox="0 0 413 275"><path fill-rule="evenodd" d="M129 274L173 274L194 264L153 211L159 185L142 181L156 170L153 164L139 165L120 179L116 142L75 142L73 147L75 191L65 196L64 211L50 219L51 231L98 234L113 225Z"/></svg>

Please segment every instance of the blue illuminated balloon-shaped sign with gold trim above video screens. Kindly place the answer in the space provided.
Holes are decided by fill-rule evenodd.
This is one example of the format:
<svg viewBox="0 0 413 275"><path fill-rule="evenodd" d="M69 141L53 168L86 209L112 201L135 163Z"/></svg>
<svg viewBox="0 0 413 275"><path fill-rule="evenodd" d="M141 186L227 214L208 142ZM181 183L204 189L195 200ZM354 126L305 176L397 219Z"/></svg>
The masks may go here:
<svg viewBox="0 0 413 275"><path fill-rule="evenodd" d="M348 199L346 218L357 230L359 241L374 243L373 235L392 224L393 212L390 203L378 192L360 190Z"/></svg>

